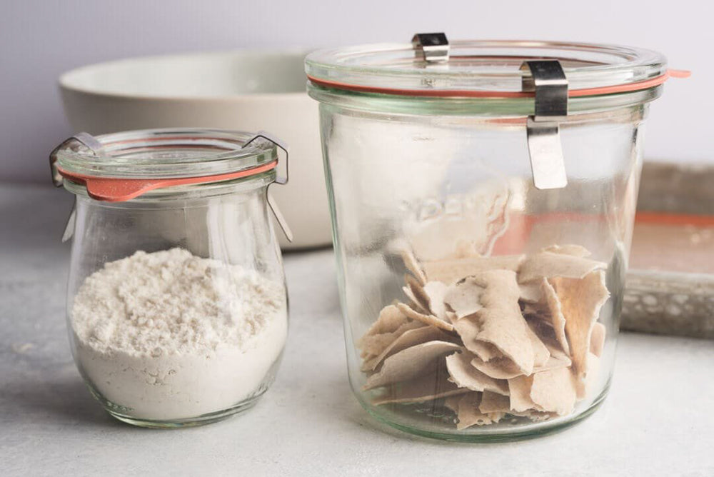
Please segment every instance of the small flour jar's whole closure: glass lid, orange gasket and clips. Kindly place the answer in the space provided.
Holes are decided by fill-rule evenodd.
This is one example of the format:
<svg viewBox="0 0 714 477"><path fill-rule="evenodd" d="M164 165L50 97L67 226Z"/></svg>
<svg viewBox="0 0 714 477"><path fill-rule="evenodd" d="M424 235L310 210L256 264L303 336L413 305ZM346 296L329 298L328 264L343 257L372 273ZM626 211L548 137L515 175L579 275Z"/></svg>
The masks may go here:
<svg viewBox="0 0 714 477"><path fill-rule="evenodd" d="M50 155L52 179L79 185L99 201L121 202L176 186L265 176L276 179L279 141L266 134L217 129L147 129L80 133ZM287 154L287 151L286 151Z"/></svg>

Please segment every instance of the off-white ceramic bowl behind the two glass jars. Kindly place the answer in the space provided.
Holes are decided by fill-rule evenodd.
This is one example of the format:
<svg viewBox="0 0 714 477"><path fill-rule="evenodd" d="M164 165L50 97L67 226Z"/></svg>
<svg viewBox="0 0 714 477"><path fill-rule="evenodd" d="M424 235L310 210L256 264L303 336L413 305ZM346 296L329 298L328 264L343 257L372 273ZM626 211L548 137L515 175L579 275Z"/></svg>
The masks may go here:
<svg viewBox="0 0 714 477"><path fill-rule="evenodd" d="M290 147L290 183L271 186L294 241L331 243L317 103L305 91L306 51L151 56L84 66L59 85L72 128L90 134L162 127L268 131Z"/></svg>

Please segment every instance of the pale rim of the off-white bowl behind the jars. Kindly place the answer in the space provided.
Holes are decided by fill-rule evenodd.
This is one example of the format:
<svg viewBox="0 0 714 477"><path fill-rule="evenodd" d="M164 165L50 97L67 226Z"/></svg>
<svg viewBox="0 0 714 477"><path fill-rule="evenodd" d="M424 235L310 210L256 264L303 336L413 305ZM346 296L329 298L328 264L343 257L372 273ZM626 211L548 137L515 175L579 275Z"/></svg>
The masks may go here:
<svg viewBox="0 0 714 477"><path fill-rule="evenodd" d="M127 58L119 58L109 61L101 61L99 63L87 64L84 66L79 66L77 68L65 71L59 75L57 79L57 84L61 91L71 91L78 94L84 94L87 96L98 96L103 98L116 98L116 99L151 99L153 101L226 101L226 100L264 100L264 99L297 99L307 96L307 76L305 76L305 91L285 91L278 93L243 93L243 94L217 94L215 96L198 96L195 94L186 95L161 95L161 94L137 94L137 93L125 93L119 90L116 91L106 91L99 90L95 88L90 88L86 86L79 86L76 84L76 78L82 75L96 71L97 69L103 69L109 66L114 66L116 64L131 64L136 61L150 61L154 60L164 60L164 59L181 59L181 58L198 58L206 56L260 56L260 55L283 55L283 56L301 56L303 59L314 49L304 48L301 46L294 46L290 48L283 49L232 49L232 50L218 50L218 51L196 51L196 52L185 52L176 54L165 54L165 55L146 55L146 56L130 56ZM303 73L304 74L304 73Z"/></svg>

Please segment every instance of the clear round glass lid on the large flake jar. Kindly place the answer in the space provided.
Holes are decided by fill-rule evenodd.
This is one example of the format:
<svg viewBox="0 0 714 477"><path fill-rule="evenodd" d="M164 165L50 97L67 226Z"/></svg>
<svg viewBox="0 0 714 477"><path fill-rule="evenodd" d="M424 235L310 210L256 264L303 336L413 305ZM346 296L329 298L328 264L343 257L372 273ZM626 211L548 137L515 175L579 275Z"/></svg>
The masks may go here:
<svg viewBox="0 0 714 477"><path fill-rule="evenodd" d="M582 96L603 94L598 89L640 83L644 85L638 89L652 87L646 81L663 81L667 75L662 54L630 46L466 40L453 41L449 47L448 60L440 63L428 63L411 44L320 50L307 56L306 73L316 84L338 85L338 89L443 98L520 94L528 74L521 65L531 60L560 61L570 89L584 90Z"/></svg>

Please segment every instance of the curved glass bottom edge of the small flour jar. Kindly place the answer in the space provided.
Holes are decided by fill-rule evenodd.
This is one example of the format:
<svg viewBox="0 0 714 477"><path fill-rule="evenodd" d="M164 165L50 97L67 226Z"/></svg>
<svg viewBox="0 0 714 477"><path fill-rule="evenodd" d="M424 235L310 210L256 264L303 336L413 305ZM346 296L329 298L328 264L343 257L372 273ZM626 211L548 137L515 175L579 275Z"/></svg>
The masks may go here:
<svg viewBox="0 0 714 477"><path fill-rule="evenodd" d="M230 408L223 409L221 411L215 411L212 413L201 414L201 416L191 417L191 418L181 418L181 419L146 419L138 418L136 416L131 416L126 412L131 411L124 406L119 406L116 403L109 401L104 398L96 389L94 389L89 383L86 383L92 396L96 398L104 410L109 413L110 416L119 419L119 421L131 424L132 426L139 426L144 428L154 428L154 429L177 429L185 427L196 427L205 426L206 424L211 424L218 421L223 421L223 419L234 416L238 413L248 411L258 402L258 399L263 396L263 393L267 391L268 386L262 386L258 391L256 391L253 396L237 403Z"/></svg>

